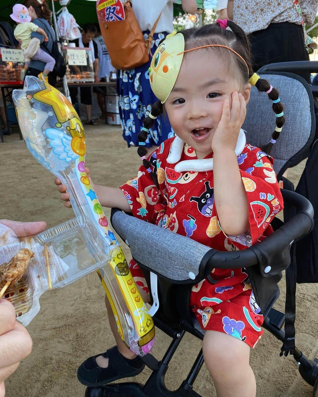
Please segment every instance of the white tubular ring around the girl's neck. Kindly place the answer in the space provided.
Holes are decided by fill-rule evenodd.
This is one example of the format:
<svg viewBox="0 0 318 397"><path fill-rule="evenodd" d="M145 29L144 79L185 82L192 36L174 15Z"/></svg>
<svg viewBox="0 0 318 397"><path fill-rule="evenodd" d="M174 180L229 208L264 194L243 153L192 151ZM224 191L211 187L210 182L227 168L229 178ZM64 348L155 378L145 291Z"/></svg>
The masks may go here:
<svg viewBox="0 0 318 397"><path fill-rule="evenodd" d="M185 143L179 138L175 137L172 142L170 154L167 158L167 162L169 164L177 163L183 152ZM246 145L246 137L243 129L240 129L239 136L237 138L237 144L235 148L235 154L238 156L242 153L244 147ZM179 162L174 167L175 171L212 171L213 170L213 158L202 158L195 160L184 160Z"/></svg>

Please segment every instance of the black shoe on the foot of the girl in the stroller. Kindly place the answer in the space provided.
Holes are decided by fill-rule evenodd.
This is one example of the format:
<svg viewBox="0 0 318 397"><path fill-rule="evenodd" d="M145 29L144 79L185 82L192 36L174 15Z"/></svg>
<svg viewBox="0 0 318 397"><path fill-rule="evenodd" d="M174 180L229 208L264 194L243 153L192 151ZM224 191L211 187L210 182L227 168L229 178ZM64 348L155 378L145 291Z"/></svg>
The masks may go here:
<svg viewBox="0 0 318 397"><path fill-rule="evenodd" d="M96 357L103 356L108 358L108 367L101 368L96 363ZM132 360L123 357L118 347L114 346L105 353L97 354L87 358L77 370L77 378L83 385L98 387L121 378L138 375L145 368L145 364L140 357Z"/></svg>

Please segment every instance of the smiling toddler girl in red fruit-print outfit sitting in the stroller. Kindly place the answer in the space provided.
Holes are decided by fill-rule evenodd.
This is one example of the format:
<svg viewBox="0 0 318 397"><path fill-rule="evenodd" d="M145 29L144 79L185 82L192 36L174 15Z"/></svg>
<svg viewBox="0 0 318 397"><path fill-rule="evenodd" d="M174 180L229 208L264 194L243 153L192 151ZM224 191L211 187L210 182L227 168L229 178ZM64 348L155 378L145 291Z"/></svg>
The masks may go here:
<svg viewBox="0 0 318 397"><path fill-rule="evenodd" d="M149 79L159 100L139 134L143 165L120 189L95 185L101 205L132 212L220 251L262 241L272 233L270 222L283 208L273 159L267 153L285 119L278 91L252 73L243 30L231 21L217 20L169 35L154 54ZM263 150L247 144L241 129L251 84L273 102L273 122L276 116L275 129L269 126L272 139ZM176 137L146 158L148 129L163 111ZM58 179L56 184L60 185ZM67 201L66 187L58 190ZM130 270L146 301L148 287L141 269L131 261ZM214 269L193 285L190 306L205 331L204 360L217 395L255 396L249 355L262 335L263 316L245 269ZM144 367L121 341L107 299L106 307L117 346L81 364L77 375L85 385L133 376Z"/></svg>

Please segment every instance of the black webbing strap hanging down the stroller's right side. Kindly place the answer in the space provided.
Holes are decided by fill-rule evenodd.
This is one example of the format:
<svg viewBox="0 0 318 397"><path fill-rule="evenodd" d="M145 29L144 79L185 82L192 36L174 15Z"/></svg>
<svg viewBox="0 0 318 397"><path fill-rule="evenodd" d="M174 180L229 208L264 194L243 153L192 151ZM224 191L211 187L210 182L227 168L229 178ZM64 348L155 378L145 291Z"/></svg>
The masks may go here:
<svg viewBox="0 0 318 397"><path fill-rule="evenodd" d="M294 185L287 178L282 177L283 187L289 191L295 191ZM284 222L293 218L296 214L295 206L288 205L284 208ZM295 350L295 318L296 318L296 245L293 244L290 249L291 264L285 270L286 278L286 300L285 300L285 337L279 356L293 354Z"/></svg>

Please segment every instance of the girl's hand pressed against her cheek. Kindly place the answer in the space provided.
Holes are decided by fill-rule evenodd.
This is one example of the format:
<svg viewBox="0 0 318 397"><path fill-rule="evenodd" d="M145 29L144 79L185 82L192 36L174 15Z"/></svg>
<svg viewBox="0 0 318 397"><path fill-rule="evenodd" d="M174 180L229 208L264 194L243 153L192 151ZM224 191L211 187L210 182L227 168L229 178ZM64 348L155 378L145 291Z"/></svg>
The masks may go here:
<svg viewBox="0 0 318 397"><path fill-rule="evenodd" d="M241 93L232 93L232 106L229 100L223 102L222 117L211 142L213 152L217 150L235 150L239 131L246 116L245 99Z"/></svg>

